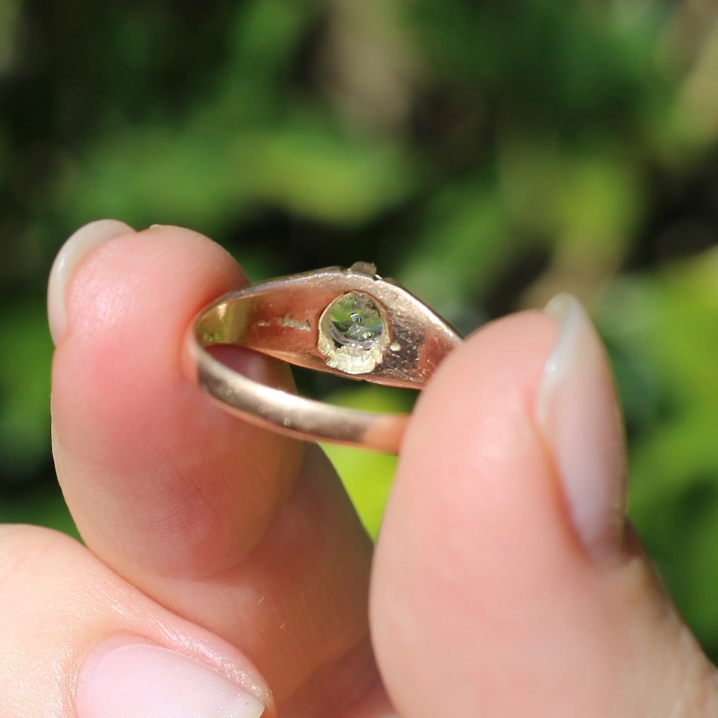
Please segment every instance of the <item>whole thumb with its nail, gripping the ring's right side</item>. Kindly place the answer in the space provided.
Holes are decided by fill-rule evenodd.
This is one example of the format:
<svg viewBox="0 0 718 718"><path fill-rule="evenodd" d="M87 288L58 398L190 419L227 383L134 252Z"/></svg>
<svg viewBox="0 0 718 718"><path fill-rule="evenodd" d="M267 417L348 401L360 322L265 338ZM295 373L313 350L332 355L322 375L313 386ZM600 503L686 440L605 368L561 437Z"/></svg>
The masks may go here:
<svg viewBox="0 0 718 718"><path fill-rule="evenodd" d="M470 337L419 400L376 551L404 718L718 714L714 669L625 526L610 370L560 297Z"/></svg>

